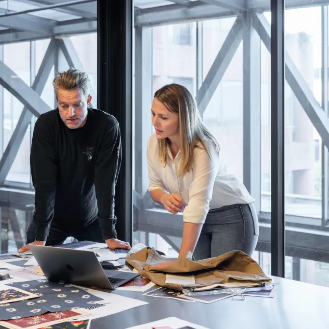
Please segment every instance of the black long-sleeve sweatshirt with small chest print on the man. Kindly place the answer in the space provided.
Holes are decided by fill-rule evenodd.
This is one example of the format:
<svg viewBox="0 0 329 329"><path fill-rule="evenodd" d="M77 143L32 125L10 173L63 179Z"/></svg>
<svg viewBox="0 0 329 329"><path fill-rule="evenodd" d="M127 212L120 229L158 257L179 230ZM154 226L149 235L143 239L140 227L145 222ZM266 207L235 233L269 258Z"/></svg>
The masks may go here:
<svg viewBox="0 0 329 329"><path fill-rule="evenodd" d="M53 217L83 227L96 216L104 239L116 237L115 185L121 165L117 120L88 109L84 126L69 129L58 109L40 115L31 146L36 240L45 241Z"/></svg>

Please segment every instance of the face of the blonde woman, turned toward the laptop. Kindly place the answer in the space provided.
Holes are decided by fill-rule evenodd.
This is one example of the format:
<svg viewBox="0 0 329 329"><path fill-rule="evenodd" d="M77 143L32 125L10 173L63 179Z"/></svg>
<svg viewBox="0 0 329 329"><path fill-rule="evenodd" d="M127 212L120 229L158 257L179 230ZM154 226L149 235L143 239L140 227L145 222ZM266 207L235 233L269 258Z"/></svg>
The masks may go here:
<svg viewBox="0 0 329 329"><path fill-rule="evenodd" d="M168 111L168 109L154 97L151 108L152 124L156 129L158 139L172 138L179 135L178 114Z"/></svg>

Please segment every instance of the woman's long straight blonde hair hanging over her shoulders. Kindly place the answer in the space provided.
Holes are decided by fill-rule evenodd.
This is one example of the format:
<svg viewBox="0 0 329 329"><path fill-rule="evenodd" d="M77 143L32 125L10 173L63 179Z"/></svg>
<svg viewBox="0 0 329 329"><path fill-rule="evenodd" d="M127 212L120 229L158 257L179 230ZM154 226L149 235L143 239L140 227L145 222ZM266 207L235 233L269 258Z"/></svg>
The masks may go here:
<svg viewBox="0 0 329 329"><path fill-rule="evenodd" d="M204 148L210 156L205 138L212 140L219 152L219 144L203 123L195 100L188 89L179 84L170 84L156 91L154 97L157 97L168 111L179 116L182 160L177 172L178 176L184 176L192 170L195 147ZM169 143L169 138L158 139L159 162L164 166L168 165L167 146Z"/></svg>

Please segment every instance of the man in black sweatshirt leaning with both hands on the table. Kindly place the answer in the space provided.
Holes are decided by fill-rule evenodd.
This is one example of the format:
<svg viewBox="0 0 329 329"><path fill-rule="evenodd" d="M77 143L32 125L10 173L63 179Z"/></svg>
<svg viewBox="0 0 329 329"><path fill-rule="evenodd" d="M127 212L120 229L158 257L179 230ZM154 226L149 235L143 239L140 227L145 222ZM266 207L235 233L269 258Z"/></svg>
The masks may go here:
<svg viewBox="0 0 329 329"><path fill-rule="evenodd" d="M58 108L41 114L31 146L35 212L28 244L57 245L67 237L106 241L110 249L130 249L117 239L115 185L121 164L119 124L110 114L88 108L88 75L70 68L53 82ZM97 220L98 219L98 220Z"/></svg>

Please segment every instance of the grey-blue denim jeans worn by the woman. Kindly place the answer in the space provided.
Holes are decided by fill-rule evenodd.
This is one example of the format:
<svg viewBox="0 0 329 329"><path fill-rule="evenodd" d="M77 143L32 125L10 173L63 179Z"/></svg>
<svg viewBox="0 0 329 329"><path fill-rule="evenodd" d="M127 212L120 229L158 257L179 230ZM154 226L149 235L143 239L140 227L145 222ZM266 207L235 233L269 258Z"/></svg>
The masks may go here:
<svg viewBox="0 0 329 329"><path fill-rule="evenodd" d="M252 255L259 236L254 203L209 211L193 252L195 260L213 258L232 250Z"/></svg>

